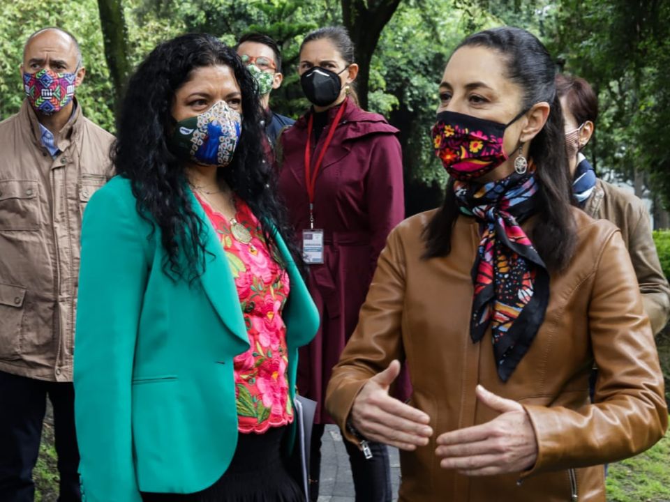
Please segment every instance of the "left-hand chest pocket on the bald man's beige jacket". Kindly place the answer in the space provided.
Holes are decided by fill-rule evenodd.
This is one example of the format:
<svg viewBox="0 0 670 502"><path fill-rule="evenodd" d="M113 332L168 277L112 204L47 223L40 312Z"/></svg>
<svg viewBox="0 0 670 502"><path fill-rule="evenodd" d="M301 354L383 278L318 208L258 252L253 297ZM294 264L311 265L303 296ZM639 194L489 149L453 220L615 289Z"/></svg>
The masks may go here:
<svg viewBox="0 0 670 502"><path fill-rule="evenodd" d="M38 231L38 196L36 180L0 180L0 231Z"/></svg>

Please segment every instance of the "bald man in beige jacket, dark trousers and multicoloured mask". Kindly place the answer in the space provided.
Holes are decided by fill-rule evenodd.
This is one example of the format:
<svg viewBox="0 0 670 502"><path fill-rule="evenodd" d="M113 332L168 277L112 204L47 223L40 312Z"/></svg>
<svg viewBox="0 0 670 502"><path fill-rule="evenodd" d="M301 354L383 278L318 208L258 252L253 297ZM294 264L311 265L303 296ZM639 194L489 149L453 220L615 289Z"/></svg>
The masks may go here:
<svg viewBox="0 0 670 502"><path fill-rule="evenodd" d="M110 178L114 137L82 114L77 40L56 28L24 47L26 99L0 122L0 500L34 499L47 396L60 502L80 501L72 354L82 211Z"/></svg>

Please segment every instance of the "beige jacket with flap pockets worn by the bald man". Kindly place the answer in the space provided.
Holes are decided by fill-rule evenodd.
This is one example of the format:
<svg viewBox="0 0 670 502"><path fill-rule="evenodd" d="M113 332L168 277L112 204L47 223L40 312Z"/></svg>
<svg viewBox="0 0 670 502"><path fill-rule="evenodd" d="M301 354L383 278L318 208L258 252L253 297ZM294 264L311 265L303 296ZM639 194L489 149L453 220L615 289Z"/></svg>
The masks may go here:
<svg viewBox="0 0 670 502"><path fill-rule="evenodd" d="M24 101L0 122L0 371L72 381L82 211L112 174L114 137L75 115L42 146Z"/></svg>

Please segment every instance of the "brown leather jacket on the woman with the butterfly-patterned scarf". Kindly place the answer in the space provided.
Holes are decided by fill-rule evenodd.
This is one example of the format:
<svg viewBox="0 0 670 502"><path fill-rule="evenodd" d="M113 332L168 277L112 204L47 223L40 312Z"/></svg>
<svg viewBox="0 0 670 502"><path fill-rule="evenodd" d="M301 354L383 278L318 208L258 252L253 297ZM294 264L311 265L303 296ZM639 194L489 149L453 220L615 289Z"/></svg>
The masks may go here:
<svg viewBox="0 0 670 502"><path fill-rule="evenodd" d="M663 436L663 377L620 232L573 211L579 227L574 259L551 275L544 324L507 383L496 373L490 334L477 344L469 335L477 222L459 216L456 245L443 258L422 259L421 234L434 211L405 220L389 236L326 406L344 429L366 380L394 358L406 358L410 404L431 417L435 435L429 446L401 452L400 501L604 501L602 464L635 455ZM600 379L597 404L590 404L594 360ZM528 411L539 445L532 471L468 478L440 468L439 434L496 416L477 403L477 383Z"/></svg>

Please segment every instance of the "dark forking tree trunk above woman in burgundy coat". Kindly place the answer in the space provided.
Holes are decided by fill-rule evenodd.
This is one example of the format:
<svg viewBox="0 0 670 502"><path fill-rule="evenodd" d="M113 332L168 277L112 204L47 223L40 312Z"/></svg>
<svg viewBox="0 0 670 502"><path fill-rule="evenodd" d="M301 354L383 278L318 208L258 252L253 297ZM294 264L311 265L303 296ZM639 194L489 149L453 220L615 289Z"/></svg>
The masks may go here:
<svg viewBox="0 0 670 502"><path fill-rule="evenodd" d="M382 34L400 0L341 0L344 25L356 47L359 73L356 79L359 104L368 107L370 63Z"/></svg>

